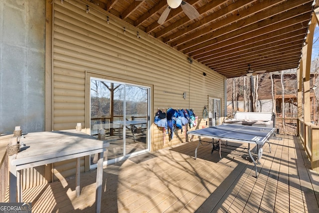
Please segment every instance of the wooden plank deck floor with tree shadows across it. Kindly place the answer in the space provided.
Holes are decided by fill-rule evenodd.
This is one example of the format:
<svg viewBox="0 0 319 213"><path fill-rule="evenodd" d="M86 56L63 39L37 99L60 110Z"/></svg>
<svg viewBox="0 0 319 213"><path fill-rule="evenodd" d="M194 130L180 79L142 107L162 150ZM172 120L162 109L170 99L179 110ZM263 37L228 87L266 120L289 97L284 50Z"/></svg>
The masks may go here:
<svg viewBox="0 0 319 213"><path fill-rule="evenodd" d="M104 169L102 212L105 213L304 213L319 212L319 174L297 137L277 135L271 153L264 146L259 176L247 150L210 154L197 142L159 150ZM81 196L68 178L24 190L33 213L94 212L96 171L81 174Z"/></svg>

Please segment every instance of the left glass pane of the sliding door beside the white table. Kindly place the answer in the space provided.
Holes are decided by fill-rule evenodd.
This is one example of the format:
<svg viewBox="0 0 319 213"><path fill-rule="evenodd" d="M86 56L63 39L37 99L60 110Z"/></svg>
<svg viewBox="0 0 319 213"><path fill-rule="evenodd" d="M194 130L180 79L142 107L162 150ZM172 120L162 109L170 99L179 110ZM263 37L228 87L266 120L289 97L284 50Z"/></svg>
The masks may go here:
<svg viewBox="0 0 319 213"><path fill-rule="evenodd" d="M91 135L110 142L105 160L124 156L125 85L91 79ZM96 164L97 156L91 156Z"/></svg>

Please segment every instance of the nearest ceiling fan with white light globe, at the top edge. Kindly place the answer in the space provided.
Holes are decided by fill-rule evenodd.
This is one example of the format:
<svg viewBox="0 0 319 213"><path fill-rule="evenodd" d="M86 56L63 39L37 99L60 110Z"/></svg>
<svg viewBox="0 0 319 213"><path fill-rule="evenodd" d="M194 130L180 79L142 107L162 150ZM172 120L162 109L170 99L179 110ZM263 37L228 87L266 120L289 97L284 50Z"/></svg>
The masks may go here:
<svg viewBox="0 0 319 213"><path fill-rule="evenodd" d="M169 14L169 11L171 8L175 9L179 5L183 9L184 13L189 17L190 20L195 19L199 16L199 12L196 10L196 8L186 1L183 0L167 0L168 6L163 11L163 13L160 15L160 18L158 20L159 24L163 24Z"/></svg>

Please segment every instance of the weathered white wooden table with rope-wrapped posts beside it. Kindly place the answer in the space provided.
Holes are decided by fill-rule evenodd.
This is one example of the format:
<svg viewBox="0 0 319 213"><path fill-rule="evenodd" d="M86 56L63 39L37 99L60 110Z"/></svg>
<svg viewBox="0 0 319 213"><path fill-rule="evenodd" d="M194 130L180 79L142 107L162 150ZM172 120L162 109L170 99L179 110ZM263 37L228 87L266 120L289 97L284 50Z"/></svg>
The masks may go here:
<svg viewBox="0 0 319 213"><path fill-rule="evenodd" d="M28 133L21 142L26 145L23 151L10 156L10 202L23 202L20 184L20 171L22 169L74 158L77 158L75 190L76 196L80 196L80 158L98 154L96 212L100 212L103 181L103 153L110 145L108 142L96 140L90 135L75 130Z"/></svg>

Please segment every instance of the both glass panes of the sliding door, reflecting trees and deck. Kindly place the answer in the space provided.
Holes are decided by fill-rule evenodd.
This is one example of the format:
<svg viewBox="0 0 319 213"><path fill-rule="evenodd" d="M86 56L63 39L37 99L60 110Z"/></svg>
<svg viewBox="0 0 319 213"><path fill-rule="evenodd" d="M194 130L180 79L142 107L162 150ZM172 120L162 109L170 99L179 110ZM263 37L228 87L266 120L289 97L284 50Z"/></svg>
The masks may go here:
<svg viewBox="0 0 319 213"><path fill-rule="evenodd" d="M149 88L91 78L91 135L110 142L112 161L149 151ZM96 164L91 156L91 165Z"/></svg>

